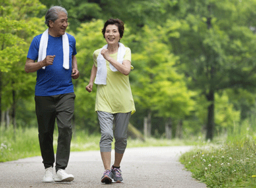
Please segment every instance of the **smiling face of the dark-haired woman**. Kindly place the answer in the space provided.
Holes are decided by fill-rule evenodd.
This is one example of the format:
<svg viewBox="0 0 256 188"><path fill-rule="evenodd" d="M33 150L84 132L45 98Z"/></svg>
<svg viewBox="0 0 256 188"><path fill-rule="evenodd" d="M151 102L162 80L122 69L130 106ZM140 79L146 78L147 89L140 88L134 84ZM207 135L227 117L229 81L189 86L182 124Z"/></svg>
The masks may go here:
<svg viewBox="0 0 256 188"><path fill-rule="evenodd" d="M118 44L119 40L121 39L118 27L116 25L106 26L106 32L104 36L108 44Z"/></svg>

